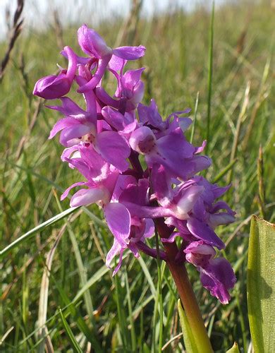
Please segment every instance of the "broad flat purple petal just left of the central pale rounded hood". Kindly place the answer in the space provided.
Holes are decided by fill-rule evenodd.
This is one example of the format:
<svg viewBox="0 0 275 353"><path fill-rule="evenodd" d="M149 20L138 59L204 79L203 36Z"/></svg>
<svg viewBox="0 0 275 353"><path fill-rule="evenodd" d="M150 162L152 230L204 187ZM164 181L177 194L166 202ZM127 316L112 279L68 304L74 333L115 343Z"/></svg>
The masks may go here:
<svg viewBox="0 0 275 353"><path fill-rule="evenodd" d="M121 172L128 169L126 158L130 155L130 148L126 140L115 131L104 131L97 135L97 150L107 162L113 164Z"/></svg>

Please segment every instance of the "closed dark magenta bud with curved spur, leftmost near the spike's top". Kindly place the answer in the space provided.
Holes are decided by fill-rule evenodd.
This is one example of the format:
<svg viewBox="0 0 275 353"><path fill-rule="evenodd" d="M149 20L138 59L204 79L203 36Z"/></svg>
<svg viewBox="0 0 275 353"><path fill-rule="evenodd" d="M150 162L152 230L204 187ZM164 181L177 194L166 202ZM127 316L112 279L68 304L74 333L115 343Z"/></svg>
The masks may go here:
<svg viewBox="0 0 275 353"><path fill-rule="evenodd" d="M64 52L68 57L68 69L62 70L58 76L51 75L40 78L35 84L34 95L38 95L45 100L54 100L69 92L75 78L77 59L70 47L65 47Z"/></svg>

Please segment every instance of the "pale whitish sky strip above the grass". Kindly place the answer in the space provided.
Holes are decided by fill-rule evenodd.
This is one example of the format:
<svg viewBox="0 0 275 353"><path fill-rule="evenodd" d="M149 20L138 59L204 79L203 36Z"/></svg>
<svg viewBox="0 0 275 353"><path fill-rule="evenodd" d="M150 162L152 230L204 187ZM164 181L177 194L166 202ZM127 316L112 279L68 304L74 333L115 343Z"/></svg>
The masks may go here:
<svg viewBox="0 0 275 353"><path fill-rule="evenodd" d="M235 0L238 1L238 0ZM58 9L63 23L83 23L96 26L102 19L127 16L130 10L131 0L25 0L23 16L28 27L43 28L52 16L52 10ZM216 0L216 6L226 0ZM11 8L11 13L16 8L16 0L0 0L0 39L6 35L6 8ZM142 15L152 16L159 11L167 11L176 6L192 11L195 6L207 4L211 6L212 0L143 0Z"/></svg>

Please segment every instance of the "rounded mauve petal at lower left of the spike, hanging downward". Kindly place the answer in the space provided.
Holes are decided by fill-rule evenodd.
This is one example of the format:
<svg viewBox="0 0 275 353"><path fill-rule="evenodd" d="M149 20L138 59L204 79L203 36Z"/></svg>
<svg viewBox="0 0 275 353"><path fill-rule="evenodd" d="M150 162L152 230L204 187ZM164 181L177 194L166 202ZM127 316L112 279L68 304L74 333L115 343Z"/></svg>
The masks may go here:
<svg viewBox="0 0 275 353"><path fill-rule="evenodd" d="M109 229L121 246L129 243L130 213L121 203L109 203L104 207L104 215Z"/></svg>

